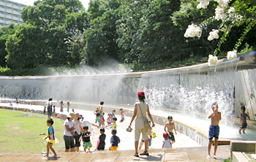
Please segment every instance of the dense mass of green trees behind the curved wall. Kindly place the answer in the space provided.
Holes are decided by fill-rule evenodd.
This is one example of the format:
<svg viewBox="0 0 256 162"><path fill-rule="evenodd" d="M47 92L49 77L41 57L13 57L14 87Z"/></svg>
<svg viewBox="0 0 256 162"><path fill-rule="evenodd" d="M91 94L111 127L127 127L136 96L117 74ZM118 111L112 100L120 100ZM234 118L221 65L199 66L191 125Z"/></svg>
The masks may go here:
<svg viewBox="0 0 256 162"><path fill-rule="evenodd" d="M224 20L224 12L216 15L219 1L207 1L208 7L198 7L195 0L91 0L85 10L79 0L37 0L23 8L24 24L0 28L0 66L75 68L118 62L147 69L255 49L256 2L230 1L224 12L233 7L236 14ZM184 37L190 24L200 27L200 39ZM208 41L214 30L219 39Z"/></svg>

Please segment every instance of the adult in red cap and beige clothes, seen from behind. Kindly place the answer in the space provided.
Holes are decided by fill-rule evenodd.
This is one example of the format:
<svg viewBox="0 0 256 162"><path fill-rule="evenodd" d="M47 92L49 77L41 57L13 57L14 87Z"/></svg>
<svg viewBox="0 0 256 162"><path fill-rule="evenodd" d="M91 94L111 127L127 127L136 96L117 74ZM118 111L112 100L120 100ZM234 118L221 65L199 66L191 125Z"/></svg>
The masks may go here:
<svg viewBox="0 0 256 162"><path fill-rule="evenodd" d="M140 139L140 133L142 133L142 139L145 142L145 150L140 155L148 155L148 129L144 125L146 114L152 121L154 126L154 121L149 112L148 104L145 103L145 93L143 91L138 91L138 102L135 103L135 109L132 115L132 120L129 123L128 128L131 128L133 120L135 120L135 154L134 156L138 157L138 145Z"/></svg>

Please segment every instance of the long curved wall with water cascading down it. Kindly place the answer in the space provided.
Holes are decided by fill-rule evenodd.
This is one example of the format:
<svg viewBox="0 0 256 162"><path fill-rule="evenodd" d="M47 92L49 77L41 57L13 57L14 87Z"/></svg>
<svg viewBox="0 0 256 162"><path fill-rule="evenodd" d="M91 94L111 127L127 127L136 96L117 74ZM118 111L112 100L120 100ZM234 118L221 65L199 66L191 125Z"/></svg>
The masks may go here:
<svg viewBox="0 0 256 162"><path fill-rule="evenodd" d="M245 80L247 73L251 80L255 80L255 71L236 72L238 58L217 63L216 66L204 64L154 72L1 77L0 97L31 100L52 97L53 100L134 104L137 91L144 90L146 101L152 109L205 117L211 111L211 104L217 101L222 120L228 120L228 117L238 116L240 104L244 103L254 119L254 92L247 94L246 84L251 86L251 91L255 88Z"/></svg>

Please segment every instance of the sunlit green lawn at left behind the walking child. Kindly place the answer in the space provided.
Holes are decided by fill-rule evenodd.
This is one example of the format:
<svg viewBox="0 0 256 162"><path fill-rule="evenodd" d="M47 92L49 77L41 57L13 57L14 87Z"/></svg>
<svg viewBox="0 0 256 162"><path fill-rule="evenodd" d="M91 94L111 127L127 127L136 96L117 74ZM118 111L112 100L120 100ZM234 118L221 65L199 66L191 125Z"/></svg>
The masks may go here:
<svg viewBox="0 0 256 162"><path fill-rule="evenodd" d="M46 142L42 139L48 135L47 116L29 112L0 109L0 153L42 153L46 150ZM63 122L53 119L55 136L59 144L53 144L58 151L64 147ZM17 128L18 127L18 128Z"/></svg>

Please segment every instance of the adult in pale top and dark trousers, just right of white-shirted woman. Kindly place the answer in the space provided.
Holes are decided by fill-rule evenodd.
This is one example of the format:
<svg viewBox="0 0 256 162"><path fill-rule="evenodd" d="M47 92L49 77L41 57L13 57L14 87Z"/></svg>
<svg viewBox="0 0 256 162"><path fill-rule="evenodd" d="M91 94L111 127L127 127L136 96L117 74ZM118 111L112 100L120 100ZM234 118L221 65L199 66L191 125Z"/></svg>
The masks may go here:
<svg viewBox="0 0 256 162"><path fill-rule="evenodd" d="M79 147L80 147L80 136L81 136L81 132L83 132L83 129L81 127L81 122L80 122L80 115L79 113L75 113L75 118L73 120L74 124L75 124L75 134L74 134L74 138L75 138L75 147L77 152L79 152Z"/></svg>

